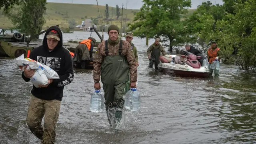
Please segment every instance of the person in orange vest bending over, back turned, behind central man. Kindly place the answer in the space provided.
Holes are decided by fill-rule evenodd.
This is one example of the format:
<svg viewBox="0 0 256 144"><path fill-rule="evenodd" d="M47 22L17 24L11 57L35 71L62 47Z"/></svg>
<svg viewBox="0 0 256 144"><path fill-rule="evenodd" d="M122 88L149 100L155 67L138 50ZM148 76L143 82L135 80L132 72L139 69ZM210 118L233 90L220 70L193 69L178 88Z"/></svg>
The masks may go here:
<svg viewBox="0 0 256 144"><path fill-rule="evenodd" d="M82 40L74 53L73 63L76 68L85 68L88 60L93 61L92 51L96 44L96 39L89 37L88 39Z"/></svg>

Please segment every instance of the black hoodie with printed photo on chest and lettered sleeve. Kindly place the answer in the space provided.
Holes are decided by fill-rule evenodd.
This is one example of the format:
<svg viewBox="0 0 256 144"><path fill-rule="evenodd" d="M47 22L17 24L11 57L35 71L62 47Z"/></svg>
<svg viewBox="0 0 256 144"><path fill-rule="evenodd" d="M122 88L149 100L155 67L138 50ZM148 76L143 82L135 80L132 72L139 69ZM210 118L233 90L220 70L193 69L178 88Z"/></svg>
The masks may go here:
<svg viewBox="0 0 256 144"><path fill-rule="evenodd" d="M60 41L54 50L49 52L46 36L51 30L58 32ZM70 53L66 48L62 47L62 32L60 28L57 26L50 27L44 35L43 45L32 50L29 58L49 66L60 76L59 79L53 80L46 88L36 88L33 85L31 93L43 100L61 100L64 86L70 84L74 79L74 69ZM24 72L22 73L22 78L26 82L30 81L30 78L24 76Z"/></svg>

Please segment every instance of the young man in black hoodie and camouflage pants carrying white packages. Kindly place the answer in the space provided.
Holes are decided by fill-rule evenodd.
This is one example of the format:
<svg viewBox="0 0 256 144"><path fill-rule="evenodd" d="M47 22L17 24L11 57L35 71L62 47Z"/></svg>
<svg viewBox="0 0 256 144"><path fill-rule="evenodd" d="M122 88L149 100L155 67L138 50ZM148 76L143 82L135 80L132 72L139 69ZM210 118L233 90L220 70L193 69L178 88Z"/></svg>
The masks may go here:
<svg viewBox="0 0 256 144"><path fill-rule="evenodd" d="M50 27L45 33L43 45L35 48L29 58L50 66L60 76L60 79L48 80L48 84L40 85L40 88L33 86L26 119L30 131L42 140L41 144L54 144L63 89L74 78L72 58L68 50L62 47L60 28ZM22 78L28 82L33 75L34 70L24 70ZM43 116L44 130L41 125Z"/></svg>

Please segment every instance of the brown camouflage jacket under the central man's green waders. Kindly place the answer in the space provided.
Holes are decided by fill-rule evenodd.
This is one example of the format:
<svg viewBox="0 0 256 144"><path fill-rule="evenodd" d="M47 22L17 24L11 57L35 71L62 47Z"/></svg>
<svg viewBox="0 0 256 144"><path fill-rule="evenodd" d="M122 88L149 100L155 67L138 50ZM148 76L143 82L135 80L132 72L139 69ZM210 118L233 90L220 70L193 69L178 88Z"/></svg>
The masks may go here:
<svg viewBox="0 0 256 144"><path fill-rule="evenodd" d="M111 45L108 43L108 55L115 56L118 55L119 42L116 45ZM130 70L130 82L137 82L137 65L134 56L132 55L131 45L126 40L122 42L122 55L126 57L128 62L129 70ZM94 70L93 70L93 79L100 81L100 73L101 73L101 64L103 62L105 53L105 41L101 42L98 45L97 51L94 55Z"/></svg>

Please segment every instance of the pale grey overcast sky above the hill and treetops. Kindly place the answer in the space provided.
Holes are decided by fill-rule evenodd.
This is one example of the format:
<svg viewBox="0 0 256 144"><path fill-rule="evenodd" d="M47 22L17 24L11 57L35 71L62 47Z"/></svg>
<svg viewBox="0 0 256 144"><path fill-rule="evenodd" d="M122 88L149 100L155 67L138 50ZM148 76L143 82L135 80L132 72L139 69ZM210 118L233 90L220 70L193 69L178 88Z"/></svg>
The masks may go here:
<svg viewBox="0 0 256 144"><path fill-rule="evenodd" d="M202 2L207 2L208 0L191 0L192 9L195 9L198 5L202 4ZM222 0L209 0L213 4L223 4ZM61 3L74 3L74 4L97 4L96 0L47 0L47 2L61 2ZM108 4L108 6L116 7L118 5L119 7L122 7L122 4L124 4L124 8L126 7L126 0L98 0L98 4L105 6ZM140 9L143 2L141 0L128 0L127 8L128 9Z"/></svg>

